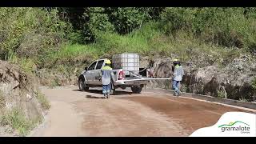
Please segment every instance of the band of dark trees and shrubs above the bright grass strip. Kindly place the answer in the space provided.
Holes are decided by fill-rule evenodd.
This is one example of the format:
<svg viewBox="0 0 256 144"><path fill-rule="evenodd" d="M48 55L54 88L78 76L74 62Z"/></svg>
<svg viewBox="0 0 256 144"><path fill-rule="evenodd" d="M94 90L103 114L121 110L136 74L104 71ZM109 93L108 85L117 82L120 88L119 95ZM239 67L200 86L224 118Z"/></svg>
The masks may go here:
<svg viewBox="0 0 256 144"><path fill-rule="evenodd" d="M256 8L1 8L0 18L1 58L58 50L62 42L88 44L106 32L130 34L147 22L174 38L182 30L202 42L256 51Z"/></svg>

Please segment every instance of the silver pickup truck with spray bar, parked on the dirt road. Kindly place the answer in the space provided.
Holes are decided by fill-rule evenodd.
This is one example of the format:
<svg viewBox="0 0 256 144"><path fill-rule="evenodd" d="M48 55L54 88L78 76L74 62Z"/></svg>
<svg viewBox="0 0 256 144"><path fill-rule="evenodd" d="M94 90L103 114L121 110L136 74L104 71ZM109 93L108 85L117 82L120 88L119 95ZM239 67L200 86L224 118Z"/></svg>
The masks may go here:
<svg viewBox="0 0 256 144"><path fill-rule="evenodd" d="M86 66L85 70L78 77L79 90L89 90L90 87L102 87L102 82L100 80L100 73L102 67L105 66L106 58L98 59ZM113 64L113 63L112 63ZM114 78L111 80L111 94L114 94L117 88L130 87L132 92L139 94L146 83L153 79L169 79L169 78L148 78L148 69L140 68L134 69L137 71L128 71L123 69L115 69L112 65ZM137 67L138 68L138 67ZM127 67L126 67L127 69Z"/></svg>

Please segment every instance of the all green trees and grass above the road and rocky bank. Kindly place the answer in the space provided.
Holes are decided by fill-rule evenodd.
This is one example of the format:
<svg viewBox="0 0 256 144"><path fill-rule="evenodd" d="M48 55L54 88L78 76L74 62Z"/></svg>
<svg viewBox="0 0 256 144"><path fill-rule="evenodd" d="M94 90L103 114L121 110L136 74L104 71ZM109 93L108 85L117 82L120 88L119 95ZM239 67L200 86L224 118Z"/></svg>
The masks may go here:
<svg viewBox="0 0 256 144"><path fill-rule="evenodd" d="M20 7L0 18L0 56L27 72L121 52L225 64L256 47L255 8Z"/></svg>

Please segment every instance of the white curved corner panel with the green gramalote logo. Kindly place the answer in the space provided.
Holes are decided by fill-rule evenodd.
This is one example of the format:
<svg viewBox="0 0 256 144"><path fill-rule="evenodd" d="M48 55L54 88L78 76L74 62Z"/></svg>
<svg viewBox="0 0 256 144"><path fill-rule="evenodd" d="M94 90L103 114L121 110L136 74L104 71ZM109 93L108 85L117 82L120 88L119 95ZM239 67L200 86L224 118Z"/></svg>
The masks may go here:
<svg viewBox="0 0 256 144"><path fill-rule="evenodd" d="M190 137L256 137L256 114L226 112L213 126L195 130Z"/></svg>

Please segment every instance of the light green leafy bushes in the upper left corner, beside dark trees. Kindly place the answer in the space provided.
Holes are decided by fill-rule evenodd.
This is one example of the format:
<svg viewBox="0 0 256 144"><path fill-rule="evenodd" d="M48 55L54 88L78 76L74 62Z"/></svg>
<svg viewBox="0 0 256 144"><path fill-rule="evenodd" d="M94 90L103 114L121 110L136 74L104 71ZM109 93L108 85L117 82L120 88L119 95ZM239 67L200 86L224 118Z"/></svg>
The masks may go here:
<svg viewBox="0 0 256 144"><path fill-rule="evenodd" d="M36 58L57 50L69 25L58 18L58 10L38 8L0 8L0 56L10 52L18 57Z"/></svg>

